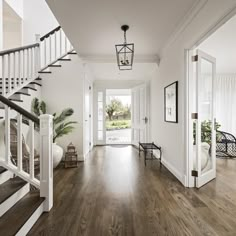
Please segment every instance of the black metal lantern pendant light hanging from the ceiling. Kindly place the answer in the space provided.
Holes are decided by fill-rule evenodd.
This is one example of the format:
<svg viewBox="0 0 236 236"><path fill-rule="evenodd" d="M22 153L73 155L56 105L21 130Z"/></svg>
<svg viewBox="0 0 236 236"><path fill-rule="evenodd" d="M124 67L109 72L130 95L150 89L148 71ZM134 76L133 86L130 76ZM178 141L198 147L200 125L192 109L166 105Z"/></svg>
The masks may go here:
<svg viewBox="0 0 236 236"><path fill-rule="evenodd" d="M121 29L124 31L124 43L116 44L117 64L120 70L132 70L134 61L134 44L127 43L126 31L129 29L128 25L122 25Z"/></svg>

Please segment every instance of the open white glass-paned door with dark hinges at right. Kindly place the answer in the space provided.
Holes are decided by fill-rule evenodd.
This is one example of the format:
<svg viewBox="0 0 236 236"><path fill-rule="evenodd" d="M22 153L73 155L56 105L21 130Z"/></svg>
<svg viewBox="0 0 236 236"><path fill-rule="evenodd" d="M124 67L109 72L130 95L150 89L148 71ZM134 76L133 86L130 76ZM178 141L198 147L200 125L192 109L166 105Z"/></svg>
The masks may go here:
<svg viewBox="0 0 236 236"><path fill-rule="evenodd" d="M196 187L216 177L214 83L216 60L197 50L196 62ZM207 162L206 162L207 161ZM204 164L207 163L207 164Z"/></svg>

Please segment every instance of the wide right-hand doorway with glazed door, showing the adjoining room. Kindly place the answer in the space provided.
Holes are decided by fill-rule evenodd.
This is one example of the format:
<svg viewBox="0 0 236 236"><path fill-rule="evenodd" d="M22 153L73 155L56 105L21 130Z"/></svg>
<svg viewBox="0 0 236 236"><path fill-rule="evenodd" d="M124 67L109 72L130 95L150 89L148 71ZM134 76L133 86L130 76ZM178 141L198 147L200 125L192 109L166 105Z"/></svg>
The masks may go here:
<svg viewBox="0 0 236 236"><path fill-rule="evenodd" d="M186 54L189 187L227 179L235 166L236 17L223 23Z"/></svg>

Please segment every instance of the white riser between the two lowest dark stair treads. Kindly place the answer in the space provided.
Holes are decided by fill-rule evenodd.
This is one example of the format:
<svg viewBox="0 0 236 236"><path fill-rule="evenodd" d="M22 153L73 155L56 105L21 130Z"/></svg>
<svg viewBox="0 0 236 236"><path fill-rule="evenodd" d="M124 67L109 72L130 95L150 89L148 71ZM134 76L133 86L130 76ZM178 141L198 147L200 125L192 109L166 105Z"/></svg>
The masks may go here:
<svg viewBox="0 0 236 236"><path fill-rule="evenodd" d="M0 205L0 217L6 213L11 207L13 207L22 197L24 197L30 191L30 185L26 184L16 193L10 196L6 201Z"/></svg>

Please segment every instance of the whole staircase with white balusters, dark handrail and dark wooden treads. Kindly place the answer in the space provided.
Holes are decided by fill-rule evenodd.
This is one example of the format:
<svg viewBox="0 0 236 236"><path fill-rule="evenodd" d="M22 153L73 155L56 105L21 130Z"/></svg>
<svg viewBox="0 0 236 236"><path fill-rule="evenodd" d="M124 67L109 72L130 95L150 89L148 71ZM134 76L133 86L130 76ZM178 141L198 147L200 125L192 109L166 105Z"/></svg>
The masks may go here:
<svg viewBox="0 0 236 236"><path fill-rule="evenodd" d="M0 52L0 235L26 235L43 212L53 206L52 125L51 115L39 118L21 107L37 92L43 78L76 52L60 26L36 43ZM17 123L17 161L11 154L11 120ZM23 153L23 120L27 120L29 157ZM39 140L36 139L36 127ZM4 141L3 141L4 140ZM39 143L39 173L36 172L35 146ZM1 142L1 139L0 139ZM4 150L3 150L4 149ZM29 168L24 168L27 162Z"/></svg>

